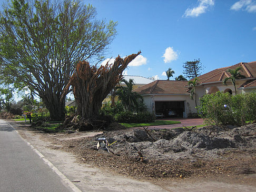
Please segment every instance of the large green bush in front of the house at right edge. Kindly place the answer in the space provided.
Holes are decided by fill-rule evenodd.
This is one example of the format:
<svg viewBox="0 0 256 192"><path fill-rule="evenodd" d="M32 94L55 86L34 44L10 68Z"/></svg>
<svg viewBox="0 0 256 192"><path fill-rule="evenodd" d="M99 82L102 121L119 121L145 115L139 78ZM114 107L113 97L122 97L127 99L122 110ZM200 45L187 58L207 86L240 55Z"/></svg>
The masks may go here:
<svg viewBox="0 0 256 192"><path fill-rule="evenodd" d="M241 125L256 119L256 93L230 95L217 92L200 98L200 116L206 123Z"/></svg>

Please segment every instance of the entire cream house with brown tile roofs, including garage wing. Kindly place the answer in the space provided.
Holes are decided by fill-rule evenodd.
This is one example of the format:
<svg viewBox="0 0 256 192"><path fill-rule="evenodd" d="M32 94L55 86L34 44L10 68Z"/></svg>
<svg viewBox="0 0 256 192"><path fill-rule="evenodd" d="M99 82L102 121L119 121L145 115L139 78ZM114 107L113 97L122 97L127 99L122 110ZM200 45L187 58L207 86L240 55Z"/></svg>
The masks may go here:
<svg viewBox="0 0 256 192"><path fill-rule="evenodd" d="M196 86L197 104L199 104L199 98L204 94L212 94L218 91L235 94L231 81L224 85L223 80L230 77L227 72L229 68L235 69L240 66L240 73L245 78L236 81L237 94L256 91L256 62L238 63L199 76L198 85ZM168 111L175 110L178 117L188 117L190 113L196 113L195 101L191 100L188 88L188 81L156 80L134 91L143 96L149 112L163 113L168 116Z"/></svg>

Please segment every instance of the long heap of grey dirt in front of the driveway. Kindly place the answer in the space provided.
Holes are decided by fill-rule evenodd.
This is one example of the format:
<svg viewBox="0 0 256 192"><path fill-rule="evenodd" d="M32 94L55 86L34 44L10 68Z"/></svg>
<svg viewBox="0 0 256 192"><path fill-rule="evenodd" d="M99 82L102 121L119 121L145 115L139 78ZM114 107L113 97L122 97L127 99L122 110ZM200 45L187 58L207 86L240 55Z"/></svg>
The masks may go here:
<svg viewBox="0 0 256 192"><path fill-rule="evenodd" d="M97 138L106 137L111 150L117 155L135 157L138 151L148 160L174 160L216 157L220 151L232 148L256 147L256 124L242 127L204 127L185 131L172 130L119 130L96 135L88 148L95 149ZM105 151L100 150L100 153ZM199 155L198 155L199 154Z"/></svg>

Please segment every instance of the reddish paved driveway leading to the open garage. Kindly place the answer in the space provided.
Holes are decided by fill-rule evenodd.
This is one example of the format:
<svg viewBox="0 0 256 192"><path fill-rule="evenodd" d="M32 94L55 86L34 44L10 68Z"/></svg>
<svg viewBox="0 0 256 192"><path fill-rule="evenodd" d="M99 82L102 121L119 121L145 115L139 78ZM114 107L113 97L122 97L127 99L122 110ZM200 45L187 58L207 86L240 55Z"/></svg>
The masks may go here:
<svg viewBox="0 0 256 192"><path fill-rule="evenodd" d="M190 126L203 125L203 119L201 118L159 118L156 120L174 120L181 123L173 124L173 125L149 126L148 129L173 129L178 127L190 127ZM133 128L141 128L141 127L133 127Z"/></svg>

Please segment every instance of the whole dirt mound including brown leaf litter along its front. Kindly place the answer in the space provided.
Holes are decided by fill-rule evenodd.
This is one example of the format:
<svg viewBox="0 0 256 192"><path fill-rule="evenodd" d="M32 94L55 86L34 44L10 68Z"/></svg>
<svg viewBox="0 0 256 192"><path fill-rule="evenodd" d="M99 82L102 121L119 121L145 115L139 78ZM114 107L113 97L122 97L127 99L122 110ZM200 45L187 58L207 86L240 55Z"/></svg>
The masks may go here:
<svg viewBox="0 0 256 192"><path fill-rule="evenodd" d="M193 130L127 129L92 137L83 137L83 133L46 137L52 140L50 147L72 152L81 162L140 179L256 173L256 124ZM111 144L112 153L105 147L96 150L97 139L102 137Z"/></svg>

